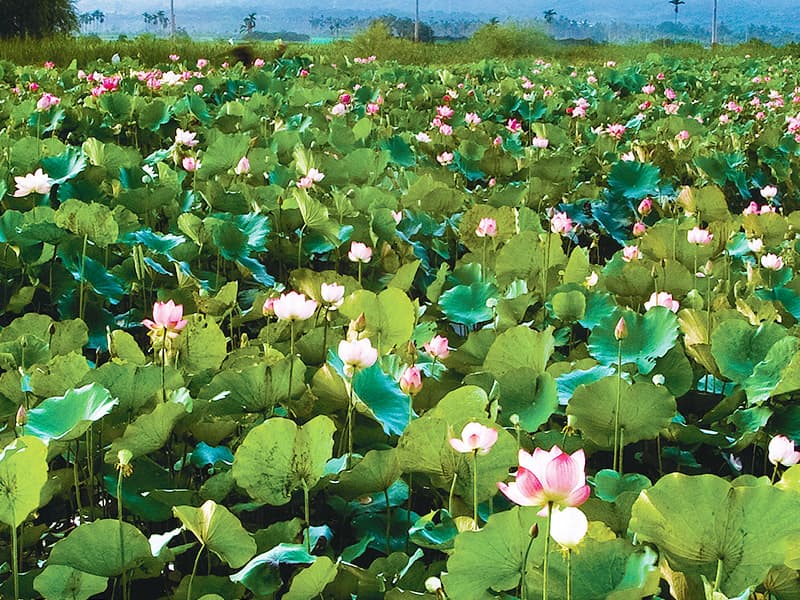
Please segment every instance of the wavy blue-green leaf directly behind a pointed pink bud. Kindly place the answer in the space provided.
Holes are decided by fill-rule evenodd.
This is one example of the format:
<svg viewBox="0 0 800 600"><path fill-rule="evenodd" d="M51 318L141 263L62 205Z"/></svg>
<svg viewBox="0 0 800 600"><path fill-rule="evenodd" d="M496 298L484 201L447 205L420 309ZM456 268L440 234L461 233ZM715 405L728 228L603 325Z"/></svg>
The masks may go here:
<svg viewBox="0 0 800 600"><path fill-rule="evenodd" d="M625 319L628 336L621 341L614 337L620 318ZM589 353L604 365L617 364L620 345L622 364L636 363L639 372L647 375L678 340L678 318L663 306L656 306L644 315L630 310L610 315L592 330Z"/></svg>

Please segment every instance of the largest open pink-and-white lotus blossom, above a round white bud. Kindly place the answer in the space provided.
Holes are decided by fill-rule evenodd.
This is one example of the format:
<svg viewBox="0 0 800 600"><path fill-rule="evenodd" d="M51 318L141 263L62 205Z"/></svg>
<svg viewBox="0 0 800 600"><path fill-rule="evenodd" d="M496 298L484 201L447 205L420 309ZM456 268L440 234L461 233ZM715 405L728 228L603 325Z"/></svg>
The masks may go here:
<svg viewBox="0 0 800 600"><path fill-rule="evenodd" d="M548 452L536 448L533 454L519 451L519 468L515 481L498 482L497 487L512 502L520 506L541 506L542 515L547 505L580 506L589 498L586 485L586 456L583 450L567 454L558 446Z"/></svg>

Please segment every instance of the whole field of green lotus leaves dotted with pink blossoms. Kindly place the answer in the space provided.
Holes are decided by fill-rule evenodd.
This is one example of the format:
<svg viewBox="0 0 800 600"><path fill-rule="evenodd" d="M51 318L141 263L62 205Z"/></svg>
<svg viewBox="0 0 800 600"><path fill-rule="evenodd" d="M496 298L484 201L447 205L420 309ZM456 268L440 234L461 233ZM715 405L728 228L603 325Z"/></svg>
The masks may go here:
<svg viewBox="0 0 800 600"><path fill-rule="evenodd" d="M799 66L3 63L0 597L800 597Z"/></svg>

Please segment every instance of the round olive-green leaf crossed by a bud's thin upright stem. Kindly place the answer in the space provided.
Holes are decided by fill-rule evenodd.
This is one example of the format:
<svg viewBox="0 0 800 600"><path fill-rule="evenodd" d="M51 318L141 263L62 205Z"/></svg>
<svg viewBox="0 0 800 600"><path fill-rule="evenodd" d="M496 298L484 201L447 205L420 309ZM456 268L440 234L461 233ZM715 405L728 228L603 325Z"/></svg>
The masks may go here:
<svg viewBox="0 0 800 600"><path fill-rule="evenodd" d="M567 405L573 425L601 448L614 445L617 385L616 376L581 385ZM619 426L625 444L655 439L677 412L675 398L664 386L623 380L620 391Z"/></svg>

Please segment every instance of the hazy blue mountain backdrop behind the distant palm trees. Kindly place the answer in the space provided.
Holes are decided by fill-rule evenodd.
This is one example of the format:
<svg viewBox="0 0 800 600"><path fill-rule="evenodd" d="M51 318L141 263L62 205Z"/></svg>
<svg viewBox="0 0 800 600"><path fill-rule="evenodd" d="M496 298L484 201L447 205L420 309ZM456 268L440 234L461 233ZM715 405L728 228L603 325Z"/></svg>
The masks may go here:
<svg viewBox="0 0 800 600"><path fill-rule="evenodd" d="M667 0L419 0L426 21L541 20L544 11L556 11L562 21L587 22L613 27L654 27L675 23L673 5ZM710 28L713 0L685 0L679 6L677 23L682 27ZM79 12L99 9L106 15L103 32L140 33L146 30L142 14L169 11L169 0L78 0ZM800 35L797 0L719 0L718 23L729 30L748 26L773 28ZM412 16L414 0L288 0L286 3L257 0L175 0L176 20L190 34L234 35L242 19L254 12L258 30L293 30L313 33L315 16L367 20L382 14ZM152 27L150 29L152 31ZM322 32L318 32L322 33Z"/></svg>

